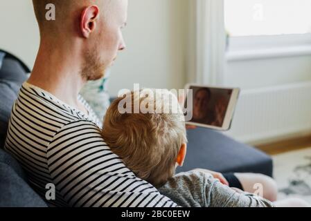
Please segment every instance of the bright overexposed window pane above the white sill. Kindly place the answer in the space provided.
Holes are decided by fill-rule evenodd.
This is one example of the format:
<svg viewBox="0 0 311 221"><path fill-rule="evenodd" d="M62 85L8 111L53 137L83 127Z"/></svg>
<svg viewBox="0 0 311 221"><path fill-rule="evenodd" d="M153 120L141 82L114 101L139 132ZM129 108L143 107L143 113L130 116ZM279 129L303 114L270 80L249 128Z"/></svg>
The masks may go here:
<svg viewBox="0 0 311 221"><path fill-rule="evenodd" d="M310 0L224 0L231 37L311 33Z"/></svg>

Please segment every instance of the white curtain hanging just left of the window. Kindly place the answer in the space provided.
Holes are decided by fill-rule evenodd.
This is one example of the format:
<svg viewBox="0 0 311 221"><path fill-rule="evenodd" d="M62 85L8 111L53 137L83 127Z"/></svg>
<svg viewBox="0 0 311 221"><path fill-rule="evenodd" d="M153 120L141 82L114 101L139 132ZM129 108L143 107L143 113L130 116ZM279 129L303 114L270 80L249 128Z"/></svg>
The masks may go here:
<svg viewBox="0 0 311 221"><path fill-rule="evenodd" d="M188 81L221 86L226 48L224 1L190 1L190 10Z"/></svg>

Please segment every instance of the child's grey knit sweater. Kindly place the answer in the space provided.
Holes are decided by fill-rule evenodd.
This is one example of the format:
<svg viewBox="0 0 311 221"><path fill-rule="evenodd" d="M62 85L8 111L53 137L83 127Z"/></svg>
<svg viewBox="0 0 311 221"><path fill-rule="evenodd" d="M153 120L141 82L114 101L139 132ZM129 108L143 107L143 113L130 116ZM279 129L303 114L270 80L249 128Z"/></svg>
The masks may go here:
<svg viewBox="0 0 311 221"><path fill-rule="evenodd" d="M274 207L251 193L238 193L208 173L179 173L159 188L160 193L183 207Z"/></svg>

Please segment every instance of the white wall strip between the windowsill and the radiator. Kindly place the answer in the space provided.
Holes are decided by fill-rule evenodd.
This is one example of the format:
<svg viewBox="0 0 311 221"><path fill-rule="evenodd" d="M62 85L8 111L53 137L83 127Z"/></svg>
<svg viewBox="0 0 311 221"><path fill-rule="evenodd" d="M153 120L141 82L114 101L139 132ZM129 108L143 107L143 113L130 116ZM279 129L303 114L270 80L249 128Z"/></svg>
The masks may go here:
<svg viewBox="0 0 311 221"><path fill-rule="evenodd" d="M229 61L225 84L243 89L311 81L311 56Z"/></svg>

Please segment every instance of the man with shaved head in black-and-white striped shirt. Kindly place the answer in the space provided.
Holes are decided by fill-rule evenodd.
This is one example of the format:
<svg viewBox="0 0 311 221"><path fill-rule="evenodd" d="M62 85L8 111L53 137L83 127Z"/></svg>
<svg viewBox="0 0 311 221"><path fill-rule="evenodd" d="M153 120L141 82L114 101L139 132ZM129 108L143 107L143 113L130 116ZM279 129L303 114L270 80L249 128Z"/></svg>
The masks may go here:
<svg viewBox="0 0 311 221"><path fill-rule="evenodd" d="M55 21L45 18L48 3L55 5ZM54 184L56 198L49 201L54 206L177 206L112 153L100 136L100 122L79 95L125 49L127 0L33 0L33 5L41 42L6 140L30 184L42 197L46 184ZM226 182L220 173L213 175ZM254 182L268 190L273 186L261 175L238 178L246 191Z"/></svg>

